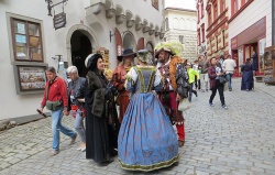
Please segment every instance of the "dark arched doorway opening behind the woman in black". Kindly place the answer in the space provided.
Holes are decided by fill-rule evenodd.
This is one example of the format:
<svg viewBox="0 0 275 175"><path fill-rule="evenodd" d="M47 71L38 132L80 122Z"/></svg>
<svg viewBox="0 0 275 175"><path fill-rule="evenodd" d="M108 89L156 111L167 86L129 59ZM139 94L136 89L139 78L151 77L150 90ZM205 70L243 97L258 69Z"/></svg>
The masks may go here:
<svg viewBox="0 0 275 175"><path fill-rule="evenodd" d="M77 67L80 77L87 74L85 58L92 53L92 46L89 37L80 30L73 33L70 37L72 64Z"/></svg>

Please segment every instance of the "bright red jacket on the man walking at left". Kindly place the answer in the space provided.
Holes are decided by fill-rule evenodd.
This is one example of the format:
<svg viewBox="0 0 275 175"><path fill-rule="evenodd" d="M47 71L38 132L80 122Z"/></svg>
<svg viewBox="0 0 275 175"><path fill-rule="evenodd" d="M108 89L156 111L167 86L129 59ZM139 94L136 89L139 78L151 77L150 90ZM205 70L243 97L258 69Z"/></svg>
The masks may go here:
<svg viewBox="0 0 275 175"><path fill-rule="evenodd" d="M47 91L48 83L50 81L46 83L45 90L44 90L44 97L43 97L42 102L41 102L41 107L43 107L43 108L46 106L46 91ZM50 101L62 100L63 106L65 108L68 107L67 84L64 81L64 79L57 77L54 80L54 83L50 85L48 100Z"/></svg>

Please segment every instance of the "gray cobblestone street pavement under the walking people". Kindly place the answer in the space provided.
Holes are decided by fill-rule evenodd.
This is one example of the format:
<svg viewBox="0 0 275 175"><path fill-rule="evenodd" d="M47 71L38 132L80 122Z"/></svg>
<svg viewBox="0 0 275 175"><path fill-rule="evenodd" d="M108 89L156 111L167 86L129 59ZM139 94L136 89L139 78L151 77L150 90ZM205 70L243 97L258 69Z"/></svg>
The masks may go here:
<svg viewBox="0 0 275 175"><path fill-rule="evenodd" d="M226 92L228 110L219 96L208 106L209 92L193 97L186 111L186 144L179 149L177 166L142 173L122 171L116 158L98 166L77 151L78 142L61 134L61 153L51 157L51 118L0 132L0 175L98 175L98 174L275 174L275 86L255 83L253 91L241 91L240 79ZM65 125L73 127L72 117Z"/></svg>

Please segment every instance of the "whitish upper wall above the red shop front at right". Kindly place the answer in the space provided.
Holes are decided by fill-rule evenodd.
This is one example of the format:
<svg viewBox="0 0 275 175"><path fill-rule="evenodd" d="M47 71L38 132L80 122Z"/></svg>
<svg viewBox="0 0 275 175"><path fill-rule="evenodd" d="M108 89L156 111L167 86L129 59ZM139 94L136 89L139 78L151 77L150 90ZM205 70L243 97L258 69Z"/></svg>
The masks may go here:
<svg viewBox="0 0 275 175"><path fill-rule="evenodd" d="M231 6L231 4L230 4ZM231 12L231 11L230 11ZM266 17L266 46L272 45L272 1L254 0L244 11L229 23L229 46L231 39Z"/></svg>

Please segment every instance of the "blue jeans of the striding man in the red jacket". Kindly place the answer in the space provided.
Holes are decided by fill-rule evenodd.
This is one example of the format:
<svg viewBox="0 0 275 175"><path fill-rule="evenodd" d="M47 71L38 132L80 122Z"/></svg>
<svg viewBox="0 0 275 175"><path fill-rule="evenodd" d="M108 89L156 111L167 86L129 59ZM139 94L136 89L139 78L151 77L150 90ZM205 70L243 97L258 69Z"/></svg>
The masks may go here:
<svg viewBox="0 0 275 175"><path fill-rule="evenodd" d="M58 151L61 132L70 138L74 138L76 135L76 132L62 125L63 108L56 111L51 111L51 114L52 114L52 130L53 130L53 150Z"/></svg>

